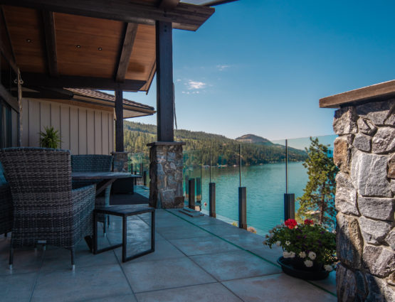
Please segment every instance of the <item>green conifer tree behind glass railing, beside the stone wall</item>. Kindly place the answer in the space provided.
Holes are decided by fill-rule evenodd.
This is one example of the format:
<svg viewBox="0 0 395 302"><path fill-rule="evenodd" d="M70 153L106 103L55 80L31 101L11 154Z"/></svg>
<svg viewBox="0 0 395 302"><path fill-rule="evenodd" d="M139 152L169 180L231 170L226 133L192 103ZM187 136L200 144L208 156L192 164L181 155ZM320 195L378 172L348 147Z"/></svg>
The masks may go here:
<svg viewBox="0 0 395 302"><path fill-rule="evenodd" d="M309 180L304 193L297 198L300 204L297 221L313 219L327 227L335 227L335 177L338 168L328 156L328 146L310 137L306 148L307 158L303 166L307 168Z"/></svg>

